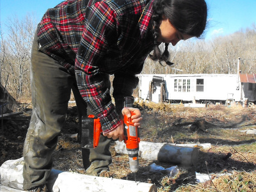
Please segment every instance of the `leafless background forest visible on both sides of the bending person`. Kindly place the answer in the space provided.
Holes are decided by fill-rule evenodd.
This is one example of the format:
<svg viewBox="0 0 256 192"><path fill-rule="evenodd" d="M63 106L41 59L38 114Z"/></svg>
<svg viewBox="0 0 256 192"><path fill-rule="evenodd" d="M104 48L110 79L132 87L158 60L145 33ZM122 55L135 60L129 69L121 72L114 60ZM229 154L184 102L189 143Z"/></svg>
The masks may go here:
<svg viewBox="0 0 256 192"><path fill-rule="evenodd" d="M1 33L0 83L15 99L29 97L30 56L36 28L33 15L13 17ZM1 24L2 25L2 24ZM160 45L163 49L163 45ZM142 74L236 74L237 58L242 73L256 73L256 24L228 36L211 40L191 38L175 47L169 46L169 67L149 58ZM111 78L113 79L113 78Z"/></svg>

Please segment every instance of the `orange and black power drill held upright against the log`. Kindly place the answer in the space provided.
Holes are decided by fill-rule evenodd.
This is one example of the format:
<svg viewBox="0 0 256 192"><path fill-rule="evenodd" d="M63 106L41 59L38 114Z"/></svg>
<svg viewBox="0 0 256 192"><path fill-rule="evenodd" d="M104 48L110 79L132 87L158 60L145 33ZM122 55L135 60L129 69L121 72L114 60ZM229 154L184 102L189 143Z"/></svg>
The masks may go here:
<svg viewBox="0 0 256 192"><path fill-rule="evenodd" d="M134 102L133 97L125 97L124 106L132 108ZM134 115L131 112L131 116ZM124 116L124 143L129 156L129 164L132 172L138 172L139 169L139 143L140 135L138 127L132 123L132 119ZM100 133L102 127L99 118L89 115L88 118L82 118L81 126L81 145L82 148L95 148L99 144Z"/></svg>

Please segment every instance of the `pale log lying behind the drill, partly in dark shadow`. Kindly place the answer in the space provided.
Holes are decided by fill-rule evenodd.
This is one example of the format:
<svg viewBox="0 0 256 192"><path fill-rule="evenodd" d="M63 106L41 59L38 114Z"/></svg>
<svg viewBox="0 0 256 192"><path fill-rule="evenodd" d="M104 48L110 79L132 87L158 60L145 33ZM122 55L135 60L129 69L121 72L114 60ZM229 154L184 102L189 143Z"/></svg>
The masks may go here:
<svg viewBox="0 0 256 192"><path fill-rule="evenodd" d="M211 148L211 144L169 144L140 141L139 156L149 161L194 165L198 159L198 148ZM115 150L127 154L124 142L116 141Z"/></svg>

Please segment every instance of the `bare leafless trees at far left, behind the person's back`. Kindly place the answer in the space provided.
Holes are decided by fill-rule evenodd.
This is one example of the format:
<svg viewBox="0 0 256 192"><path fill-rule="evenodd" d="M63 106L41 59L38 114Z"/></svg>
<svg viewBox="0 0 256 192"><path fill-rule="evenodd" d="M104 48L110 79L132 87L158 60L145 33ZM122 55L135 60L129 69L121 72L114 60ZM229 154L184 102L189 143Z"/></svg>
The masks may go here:
<svg viewBox="0 0 256 192"><path fill-rule="evenodd" d="M7 33L1 41L4 50L1 51L2 72L9 76L8 89L20 97L25 92L30 93L29 68L35 17L27 15L20 20L14 16L8 19L6 27Z"/></svg>

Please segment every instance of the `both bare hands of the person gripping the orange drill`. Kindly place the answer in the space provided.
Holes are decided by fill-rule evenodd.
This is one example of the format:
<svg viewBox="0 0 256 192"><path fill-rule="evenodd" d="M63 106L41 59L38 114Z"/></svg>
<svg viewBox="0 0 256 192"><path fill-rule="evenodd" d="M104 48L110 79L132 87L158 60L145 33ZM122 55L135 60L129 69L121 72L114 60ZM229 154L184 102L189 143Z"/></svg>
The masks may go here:
<svg viewBox="0 0 256 192"><path fill-rule="evenodd" d="M135 115L131 116L131 111L135 113ZM140 109L137 108L124 108L122 109L122 114L126 115L127 117L132 118L132 123L136 127L140 127L140 122L142 120ZM113 140L118 139L119 141L124 140L124 124L121 123L115 130L108 132L108 133L103 133L104 136L107 136L108 138L112 138Z"/></svg>

